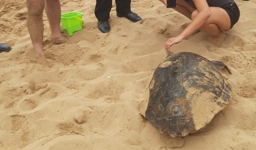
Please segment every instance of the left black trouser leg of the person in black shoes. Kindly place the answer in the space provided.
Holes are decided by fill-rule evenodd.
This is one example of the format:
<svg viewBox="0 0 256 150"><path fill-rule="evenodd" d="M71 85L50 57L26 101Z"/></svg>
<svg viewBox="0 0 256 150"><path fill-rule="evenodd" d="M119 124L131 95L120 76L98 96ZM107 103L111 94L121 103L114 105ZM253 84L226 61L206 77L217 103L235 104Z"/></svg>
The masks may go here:
<svg viewBox="0 0 256 150"><path fill-rule="evenodd" d="M122 1L122 0L120 0ZM99 21L108 21L112 0L96 0L95 16Z"/></svg>

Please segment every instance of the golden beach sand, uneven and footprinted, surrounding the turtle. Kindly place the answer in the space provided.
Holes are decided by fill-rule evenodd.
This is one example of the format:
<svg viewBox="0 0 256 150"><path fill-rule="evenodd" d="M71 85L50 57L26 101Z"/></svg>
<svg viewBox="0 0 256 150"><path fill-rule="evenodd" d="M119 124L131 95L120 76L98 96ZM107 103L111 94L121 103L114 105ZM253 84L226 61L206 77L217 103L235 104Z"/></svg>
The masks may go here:
<svg viewBox="0 0 256 150"><path fill-rule="evenodd" d="M164 44L190 22L157 0L132 1L136 23L110 12L111 32L98 30L95 0L61 0L61 13L82 12L83 30L55 45L44 12L44 51L36 63L24 0L0 3L0 150L254 150L256 147L256 1L236 0L240 19L220 47L198 32L171 51L224 61L233 87L229 105L202 132L168 139L139 114Z"/></svg>

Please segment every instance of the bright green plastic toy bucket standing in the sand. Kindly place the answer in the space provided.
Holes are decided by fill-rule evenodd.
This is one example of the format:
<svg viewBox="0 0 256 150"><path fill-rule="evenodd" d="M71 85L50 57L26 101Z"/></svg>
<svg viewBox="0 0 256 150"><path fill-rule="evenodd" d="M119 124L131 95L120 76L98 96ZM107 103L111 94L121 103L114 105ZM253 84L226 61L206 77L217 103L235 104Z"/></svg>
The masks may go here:
<svg viewBox="0 0 256 150"><path fill-rule="evenodd" d="M62 29L66 30L69 36L72 36L75 31L82 30L82 16L83 13L76 11L61 14Z"/></svg>

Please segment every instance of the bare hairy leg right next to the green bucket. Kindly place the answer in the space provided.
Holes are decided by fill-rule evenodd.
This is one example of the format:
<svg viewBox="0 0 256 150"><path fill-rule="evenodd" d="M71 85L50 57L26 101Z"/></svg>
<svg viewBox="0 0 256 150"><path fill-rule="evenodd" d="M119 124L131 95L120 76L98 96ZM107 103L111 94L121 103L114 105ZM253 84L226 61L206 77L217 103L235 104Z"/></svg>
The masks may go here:
<svg viewBox="0 0 256 150"><path fill-rule="evenodd" d="M52 32L52 42L55 44L65 43L61 35L61 4L59 0L46 0L45 12L48 17Z"/></svg>

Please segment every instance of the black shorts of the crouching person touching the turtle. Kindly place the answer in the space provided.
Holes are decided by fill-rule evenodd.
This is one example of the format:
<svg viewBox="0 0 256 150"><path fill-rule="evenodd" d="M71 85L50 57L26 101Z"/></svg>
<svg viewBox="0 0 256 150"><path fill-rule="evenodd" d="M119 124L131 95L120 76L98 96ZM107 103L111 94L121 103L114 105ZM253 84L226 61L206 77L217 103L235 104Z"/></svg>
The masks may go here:
<svg viewBox="0 0 256 150"><path fill-rule="evenodd" d="M226 12L229 15L230 18L230 29L236 24L236 22L238 21L239 17L240 17L240 11L238 6L236 5L236 3L234 2L232 5L228 6L228 7L224 7L224 10L226 10Z"/></svg>

